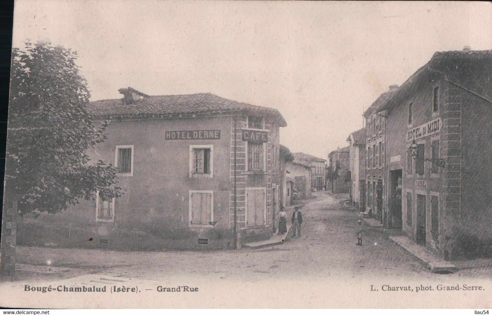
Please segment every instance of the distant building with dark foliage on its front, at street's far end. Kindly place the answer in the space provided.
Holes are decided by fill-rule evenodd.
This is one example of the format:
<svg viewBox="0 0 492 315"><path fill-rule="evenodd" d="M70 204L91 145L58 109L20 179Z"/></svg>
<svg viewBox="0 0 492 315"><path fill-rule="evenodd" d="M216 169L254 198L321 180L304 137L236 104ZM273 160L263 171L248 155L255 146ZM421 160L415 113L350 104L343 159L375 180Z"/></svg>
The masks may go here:
<svg viewBox="0 0 492 315"><path fill-rule="evenodd" d="M349 172L350 147L343 147L328 154L330 167L338 171L338 177L330 181L333 193L348 193L350 191L350 180L347 180Z"/></svg>

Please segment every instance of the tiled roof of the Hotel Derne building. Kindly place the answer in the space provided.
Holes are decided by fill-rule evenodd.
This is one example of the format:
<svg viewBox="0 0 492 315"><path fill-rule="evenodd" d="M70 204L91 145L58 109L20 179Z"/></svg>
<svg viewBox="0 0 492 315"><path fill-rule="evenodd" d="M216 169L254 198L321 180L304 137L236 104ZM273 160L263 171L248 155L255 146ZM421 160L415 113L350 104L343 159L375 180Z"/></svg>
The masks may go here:
<svg viewBox="0 0 492 315"><path fill-rule="evenodd" d="M148 96L129 105L124 104L122 98L103 99L91 102L88 109L95 117L142 117L246 110L276 116L280 126L287 126L277 109L237 102L211 93Z"/></svg>

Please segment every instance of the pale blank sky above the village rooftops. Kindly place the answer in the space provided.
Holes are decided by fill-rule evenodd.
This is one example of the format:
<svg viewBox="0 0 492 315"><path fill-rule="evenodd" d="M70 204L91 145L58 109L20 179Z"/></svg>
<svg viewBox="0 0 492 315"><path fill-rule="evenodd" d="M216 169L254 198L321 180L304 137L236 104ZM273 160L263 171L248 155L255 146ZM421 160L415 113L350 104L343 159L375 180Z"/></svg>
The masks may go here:
<svg viewBox="0 0 492 315"><path fill-rule="evenodd" d="M492 49L492 4L17 0L13 46L27 38L76 50L92 100L132 87L273 107L282 144L326 158L434 52Z"/></svg>

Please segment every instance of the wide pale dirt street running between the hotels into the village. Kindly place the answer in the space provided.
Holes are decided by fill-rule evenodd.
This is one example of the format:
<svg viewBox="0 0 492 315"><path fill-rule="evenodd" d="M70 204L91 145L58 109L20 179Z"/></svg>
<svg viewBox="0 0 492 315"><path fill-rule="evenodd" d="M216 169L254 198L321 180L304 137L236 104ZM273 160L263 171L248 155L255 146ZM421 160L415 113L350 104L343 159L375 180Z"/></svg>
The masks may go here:
<svg viewBox="0 0 492 315"><path fill-rule="evenodd" d="M210 280L317 280L491 278L492 268L462 269L451 275L432 274L388 236L398 230L364 224L364 246L356 246L357 212L343 208L346 195L321 191L302 207L302 237L272 248L211 252L121 252L110 250L19 247L17 261L30 266L18 272L19 282L61 280L82 275L169 280L205 277ZM51 262L47 266L48 260ZM33 272L45 266L42 273ZM22 269L22 268L21 268ZM47 271L48 270L48 271Z"/></svg>

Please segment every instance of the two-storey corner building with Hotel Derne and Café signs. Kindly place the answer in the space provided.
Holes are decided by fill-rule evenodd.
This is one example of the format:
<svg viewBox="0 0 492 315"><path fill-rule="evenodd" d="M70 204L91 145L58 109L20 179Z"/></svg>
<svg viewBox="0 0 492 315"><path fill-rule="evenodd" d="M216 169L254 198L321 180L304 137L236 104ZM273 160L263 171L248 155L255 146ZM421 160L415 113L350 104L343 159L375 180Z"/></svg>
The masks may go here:
<svg viewBox="0 0 492 315"><path fill-rule="evenodd" d="M89 105L95 122L110 121L89 155L118 168L124 194L26 216L19 245L213 249L272 236L285 181L276 109L210 93L119 92Z"/></svg>

